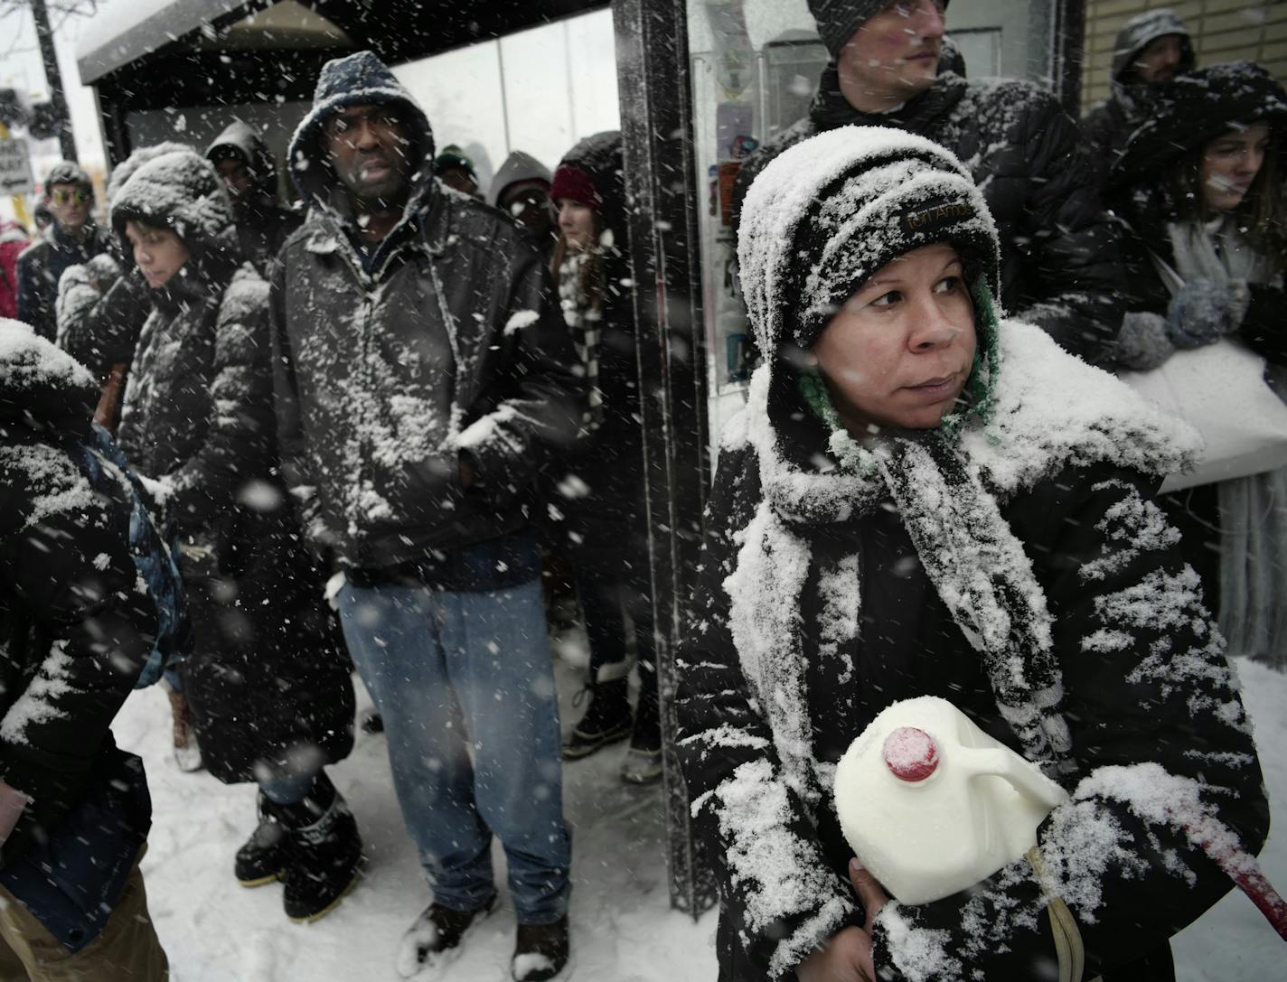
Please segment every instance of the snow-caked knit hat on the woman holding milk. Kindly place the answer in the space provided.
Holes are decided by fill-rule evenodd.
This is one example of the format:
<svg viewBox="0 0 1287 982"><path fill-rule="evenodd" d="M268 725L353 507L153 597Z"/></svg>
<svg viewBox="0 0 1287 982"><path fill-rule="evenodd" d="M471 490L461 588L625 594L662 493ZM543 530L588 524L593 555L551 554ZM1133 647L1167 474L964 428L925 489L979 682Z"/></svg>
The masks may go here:
<svg viewBox="0 0 1287 982"><path fill-rule="evenodd" d="M755 342L811 347L887 263L949 242L967 275L1000 293L992 215L965 167L923 136L842 126L803 140L746 192L737 260Z"/></svg>

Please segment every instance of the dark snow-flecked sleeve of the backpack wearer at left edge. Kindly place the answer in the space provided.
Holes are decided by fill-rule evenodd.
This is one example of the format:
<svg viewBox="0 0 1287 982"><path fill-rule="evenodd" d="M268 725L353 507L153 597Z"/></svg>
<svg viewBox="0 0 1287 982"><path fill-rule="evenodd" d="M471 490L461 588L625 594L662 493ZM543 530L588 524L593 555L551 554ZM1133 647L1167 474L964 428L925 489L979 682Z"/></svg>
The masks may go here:
<svg viewBox="0 0 1287 982"><path fill-rule="evenodd" d="M48 444L0 453L0 779L41 824L76 801L156 642L124 475L90 485Z"/></svg>

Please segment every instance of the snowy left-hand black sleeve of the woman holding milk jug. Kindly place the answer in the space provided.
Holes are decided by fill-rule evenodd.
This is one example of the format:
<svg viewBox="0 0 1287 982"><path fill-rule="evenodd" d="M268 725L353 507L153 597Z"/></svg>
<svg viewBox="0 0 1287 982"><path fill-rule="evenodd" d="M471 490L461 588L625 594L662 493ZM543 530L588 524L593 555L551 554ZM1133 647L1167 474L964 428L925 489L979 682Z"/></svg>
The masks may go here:
<svg viewBox="0 0 1287 982"><path fill-rule="evenodd" d="M694 622L677 658L677 754L719 887L721 946L741 949L721 950L721 963L736 963L730 977L740 982L794 978L819 941L862 923L849 884L828 865L808 808L786 780L728 628L723 580L759 497L753 452L722 450Z"/></svg>

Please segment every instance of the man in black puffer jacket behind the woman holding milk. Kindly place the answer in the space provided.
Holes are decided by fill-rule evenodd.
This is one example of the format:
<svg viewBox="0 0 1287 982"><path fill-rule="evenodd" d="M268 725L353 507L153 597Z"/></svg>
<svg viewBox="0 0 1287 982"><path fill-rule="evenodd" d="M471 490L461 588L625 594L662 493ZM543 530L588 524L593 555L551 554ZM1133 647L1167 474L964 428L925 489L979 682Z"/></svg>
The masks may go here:
<svg viewBox="0 0 1287 982"><path fill-rule="evenodd" d="M891 126L942 144L983 189L1001 237L1006 310L1067 351L1103 360L1121 323L1117 233L1099 205L1076 122L1019 80L937 75L943 0L810 0L831 53L807 118L737 175L735 202L779 153L837 126Z"/></svg>

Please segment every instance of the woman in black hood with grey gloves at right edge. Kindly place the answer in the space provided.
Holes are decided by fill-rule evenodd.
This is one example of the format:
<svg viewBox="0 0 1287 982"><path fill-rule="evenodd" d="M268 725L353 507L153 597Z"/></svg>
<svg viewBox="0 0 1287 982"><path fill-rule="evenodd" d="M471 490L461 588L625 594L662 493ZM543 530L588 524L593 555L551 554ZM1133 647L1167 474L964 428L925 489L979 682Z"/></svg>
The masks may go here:
<svg viewBox="0 0 1287 982"><path fill-rule="evenodd" d="M1287 391L1287 93L1230 62L1180 77L1131 136L1109 203L1127 224L1131 284L1117 363L1148 371L1229 338ZM1208 586L1229 651L1287 651L1287 468L1203 484L1163 503Z"/></svg>

